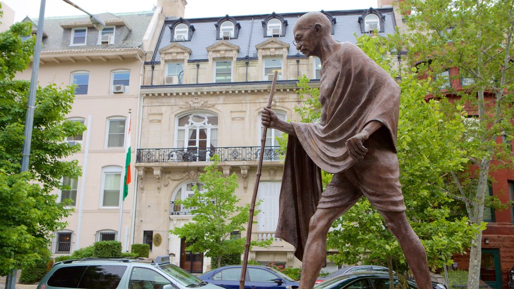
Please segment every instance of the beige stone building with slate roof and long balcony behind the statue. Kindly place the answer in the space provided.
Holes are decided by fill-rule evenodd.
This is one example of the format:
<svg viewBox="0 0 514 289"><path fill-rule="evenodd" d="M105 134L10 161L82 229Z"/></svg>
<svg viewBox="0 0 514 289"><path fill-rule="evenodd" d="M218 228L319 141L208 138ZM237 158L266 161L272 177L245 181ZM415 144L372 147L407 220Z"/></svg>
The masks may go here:
<svg viewBox="0 0 514 289"><path fill-rule="evenodd" d="M319 85L321 64L298 53L292 43L292 27L304 12L177 19L165 11L173 9L165 7L159 17L157 27L162 28L154 34L140 89L134 242L151 244L151 257L170 255L172 263L201 273L210 268L210 260L187 252L185 242L169 233L192 219L177 201L192 194L193 185L201 189L199 174L219 154L223 172L238 176L241 204L249 203L262 153L260 111L273 71L279 71L279 81L272 107L283 119L298 121L297 78L306 75ZM338 41L355 43L354 33L378 30L385 35L396 26L391 7L324 13ZM258 193L262 212L255 216L252 240L274 237L277 226L283 169L275 139L279 134L268 131ZM250 260L301 264L292 246L280 239L267 248L254 247ZM333 269L328 263L325 270Z"/></svg>

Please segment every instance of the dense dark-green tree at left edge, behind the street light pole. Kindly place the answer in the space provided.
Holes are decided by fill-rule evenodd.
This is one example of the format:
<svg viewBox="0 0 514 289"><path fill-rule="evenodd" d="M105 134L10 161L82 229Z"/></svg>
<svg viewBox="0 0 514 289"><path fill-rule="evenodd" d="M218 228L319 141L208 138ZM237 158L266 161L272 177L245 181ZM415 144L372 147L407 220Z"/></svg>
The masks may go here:
<svg viewBox="0 0 514 289"><path fill-rule="evenodd" d="M51 191L66 189L61 184L64 176L77 178L81 173L76 160L64 160L80 147L65 140L85 127L66 121L72 88L54 84L36 93L29 170L19 173L29 82L14 77L31 61L34 39L22 39L30 33L30 25L23 23L0 33L0 275L41 259L38 252L69 215L66 203L59 203Z"/></svg>

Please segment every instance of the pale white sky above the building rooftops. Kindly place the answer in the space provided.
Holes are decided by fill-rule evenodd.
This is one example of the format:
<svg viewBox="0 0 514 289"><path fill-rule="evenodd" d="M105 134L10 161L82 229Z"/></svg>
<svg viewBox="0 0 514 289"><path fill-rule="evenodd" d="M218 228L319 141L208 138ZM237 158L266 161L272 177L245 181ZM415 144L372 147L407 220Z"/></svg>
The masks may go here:
<svg viewBox="0 0 514 289"><path fill-rule="evenodd" d="M40 0L1 0L15 12L14 21L39 17ZM91 14L152 10L157 0L71 0ZM186 18L377 8L377 0L187 0ZM45 17L84 15L62 0L46 0Z"/></svg>

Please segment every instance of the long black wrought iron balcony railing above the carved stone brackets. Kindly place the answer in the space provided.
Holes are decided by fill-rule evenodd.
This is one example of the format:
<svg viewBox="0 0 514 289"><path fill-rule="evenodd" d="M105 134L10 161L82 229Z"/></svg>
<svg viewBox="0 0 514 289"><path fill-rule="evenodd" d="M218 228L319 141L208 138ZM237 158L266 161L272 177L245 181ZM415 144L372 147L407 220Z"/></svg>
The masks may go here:
<svg viewBox="0 0 514 289"><path fill-rule="evenodd" d="M261 147L138 149L136 162L210 161L218 154L222 161L259 160ZM280 147L265 147L263 160L280 160Z"/></svg>

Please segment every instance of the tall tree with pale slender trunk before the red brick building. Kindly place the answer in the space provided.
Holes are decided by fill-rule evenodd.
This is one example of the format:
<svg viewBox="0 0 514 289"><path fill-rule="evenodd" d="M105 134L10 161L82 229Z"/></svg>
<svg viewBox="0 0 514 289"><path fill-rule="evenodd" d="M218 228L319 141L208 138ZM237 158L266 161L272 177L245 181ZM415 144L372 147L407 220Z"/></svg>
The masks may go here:
<svg viewBox="0 0 514 289"><path fill-rule="evenodd" d="M484 206L490 201L489 174L511 168L514 160L509 147L514 1L407 0L403 4L404 13L412 11L406 33L411 62L425 62L420 73L436 80L435 99L451 97L469 113L470 118L461 119L467 130L456 149L470 164L467 170L451 171L449 180L454 186L451 193L464 203L470 222L483 226ZM458 69L458 76L445 77L448 69ZM455 85L458 78L462 89ZM470 248L468 288L478 288L481 240L479 231Z"/></svg>

